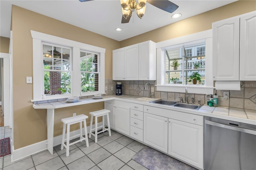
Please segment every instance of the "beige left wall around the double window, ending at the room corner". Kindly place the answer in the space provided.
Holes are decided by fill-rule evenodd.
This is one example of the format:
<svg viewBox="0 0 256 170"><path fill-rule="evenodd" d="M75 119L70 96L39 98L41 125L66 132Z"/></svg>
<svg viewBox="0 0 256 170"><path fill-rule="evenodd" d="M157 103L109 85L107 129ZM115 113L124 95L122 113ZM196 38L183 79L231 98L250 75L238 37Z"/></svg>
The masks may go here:
<svg viewBox="0 0 256 170"><path fill-rule="evenodd" d="M33 109L33 85L26 84L26 76L33 76L32 38L30 30L106 48L105 75L112 77L112 50L120 42L83 30L70 24L12 6L13 31L13 93L14 93L14 149L46 140L46 109ZM62 133L60 118L73 113L103 109L103 103L66 109L56 109L54 136ZM88 124L89 125L89 124Z"/></svg>

